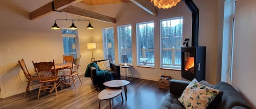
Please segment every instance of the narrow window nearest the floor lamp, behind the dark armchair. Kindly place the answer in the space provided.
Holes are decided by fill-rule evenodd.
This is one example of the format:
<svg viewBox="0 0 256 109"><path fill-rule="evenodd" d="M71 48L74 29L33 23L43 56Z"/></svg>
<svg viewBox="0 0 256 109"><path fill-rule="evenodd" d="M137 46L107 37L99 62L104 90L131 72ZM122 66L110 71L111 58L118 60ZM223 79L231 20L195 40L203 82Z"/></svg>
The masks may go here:
<svg viewBox="0 0 256 109"><path fill-rule="evenodd" d="M105 59L115 63L114 28L103 29L103 44Z"/></svg>

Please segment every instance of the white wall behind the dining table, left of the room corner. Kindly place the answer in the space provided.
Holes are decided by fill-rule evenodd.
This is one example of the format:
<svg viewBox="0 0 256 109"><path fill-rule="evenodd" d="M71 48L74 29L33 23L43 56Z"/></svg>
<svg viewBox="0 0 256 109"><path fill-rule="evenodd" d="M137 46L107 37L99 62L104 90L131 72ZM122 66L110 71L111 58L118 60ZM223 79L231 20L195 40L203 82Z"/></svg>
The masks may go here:
<svg viewBox="0 0 256 109"><path fill-rule="evenodd" d="M55 19L64 19L64 12L52 12L37 20L29 20L29 12L41 7L47 1L1 1L0 4L0 87L3 98L25 91L26 79L18 65L18 60L24 59L29 71L33 72L32 61L62 62L63 43L61 30L52 30ZM78 18L67 15L68 18ZM68 28L71 22L59 21L59 27ZM87 43L91 42L91 31L85 27L88 22L75 22L79 28L81 53L81 73L90 62L91 50Z"/></svg>

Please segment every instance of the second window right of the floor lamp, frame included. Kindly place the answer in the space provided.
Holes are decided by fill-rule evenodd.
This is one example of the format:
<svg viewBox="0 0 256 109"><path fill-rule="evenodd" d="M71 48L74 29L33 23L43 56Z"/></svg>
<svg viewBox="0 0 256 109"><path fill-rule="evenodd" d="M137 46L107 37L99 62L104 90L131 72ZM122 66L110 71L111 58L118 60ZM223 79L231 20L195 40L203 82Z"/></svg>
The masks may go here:
<svg viewBox="0 0 256 109"><path fill-rule="evenodd" d="M132 63L132 25L117 27L119 63Z"/></svg>

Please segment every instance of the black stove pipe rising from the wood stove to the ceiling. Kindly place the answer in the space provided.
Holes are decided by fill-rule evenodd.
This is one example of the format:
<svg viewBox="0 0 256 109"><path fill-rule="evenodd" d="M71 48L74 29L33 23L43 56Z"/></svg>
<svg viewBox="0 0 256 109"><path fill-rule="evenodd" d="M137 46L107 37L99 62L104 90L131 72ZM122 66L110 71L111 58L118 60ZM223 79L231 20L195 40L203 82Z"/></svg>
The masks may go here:
<svg viewBox="0 0 256 109"><path fill-rule="evenodd" d="M183 0L192 12L192 47L198 47L199 9L192 0Z"/></svg>

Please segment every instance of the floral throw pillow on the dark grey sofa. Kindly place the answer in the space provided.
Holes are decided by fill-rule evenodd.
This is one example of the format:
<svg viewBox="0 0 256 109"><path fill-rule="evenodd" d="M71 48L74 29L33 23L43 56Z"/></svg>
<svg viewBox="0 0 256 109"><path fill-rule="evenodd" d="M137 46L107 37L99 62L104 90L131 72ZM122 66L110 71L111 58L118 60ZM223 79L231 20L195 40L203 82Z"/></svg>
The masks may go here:
<svg viewBox="0 0 256 109"><path fill-rule="evenodd" d="M218 93L218 89L201 85L194 79L183 91L178 101L180 101L186 109L205 109L217 97Z"/></svg>

